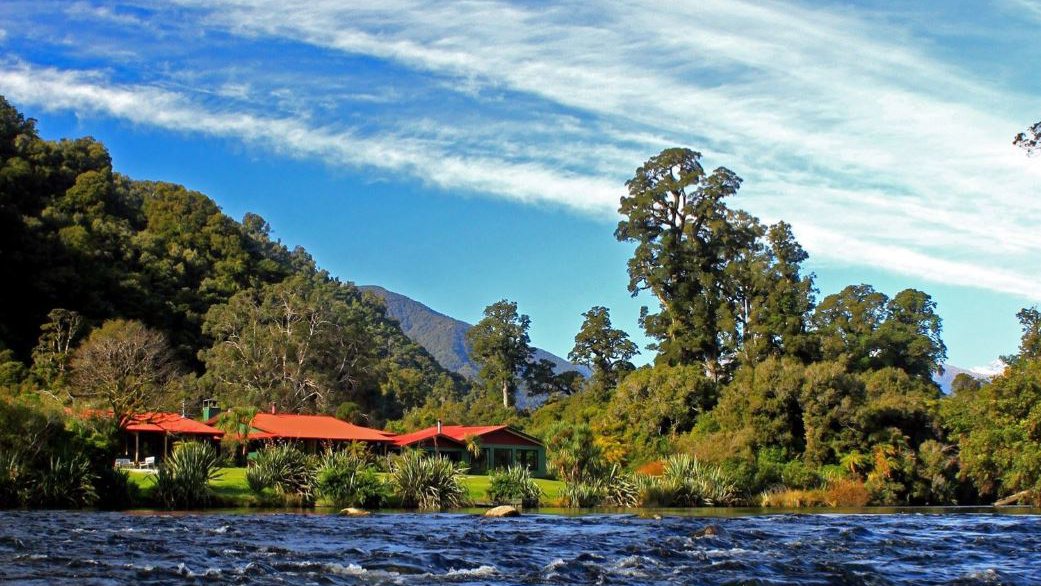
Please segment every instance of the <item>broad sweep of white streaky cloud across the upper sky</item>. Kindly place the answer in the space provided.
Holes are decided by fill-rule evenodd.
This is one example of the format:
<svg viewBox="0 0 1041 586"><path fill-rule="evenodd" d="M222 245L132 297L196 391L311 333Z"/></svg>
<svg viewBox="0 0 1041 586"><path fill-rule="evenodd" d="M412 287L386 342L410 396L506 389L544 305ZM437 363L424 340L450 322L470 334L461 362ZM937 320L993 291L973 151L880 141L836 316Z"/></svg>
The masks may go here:
<svg viewBox="0 0 1041 586"><path fill-rule="evenodd" d="M1041 164L1011 146L1041 118L1029 111L1038 101L883 18L737 0L177 3L202 30L390 63L461 105L431 108L376 81L354 95L386 98L378 123L314 123L308 108L342 105L321 88L337 71L278 88L291 106L264 111L243 104L257 94L270 108L271 78L242 70L213 80L215 101L170 79L22 62L0 66L0 91L604 219L632 169L690 146L745 178L734 205L790 222L815 259L1041 300Z"/></svg>

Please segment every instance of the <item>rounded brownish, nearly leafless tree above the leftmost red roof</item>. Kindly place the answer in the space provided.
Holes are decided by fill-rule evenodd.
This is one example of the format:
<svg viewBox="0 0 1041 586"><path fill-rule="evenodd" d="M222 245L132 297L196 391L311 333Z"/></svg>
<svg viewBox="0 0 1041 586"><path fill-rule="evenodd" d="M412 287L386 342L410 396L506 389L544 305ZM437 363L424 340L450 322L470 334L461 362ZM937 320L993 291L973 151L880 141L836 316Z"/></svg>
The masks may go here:
<svg viewBox="0 0 1041 586"><path fill-rule="evenodd" d="M177 366L167 337L141 322L105 322L76 349L69 393L107 408L117 424L155 410Z"/></svg>

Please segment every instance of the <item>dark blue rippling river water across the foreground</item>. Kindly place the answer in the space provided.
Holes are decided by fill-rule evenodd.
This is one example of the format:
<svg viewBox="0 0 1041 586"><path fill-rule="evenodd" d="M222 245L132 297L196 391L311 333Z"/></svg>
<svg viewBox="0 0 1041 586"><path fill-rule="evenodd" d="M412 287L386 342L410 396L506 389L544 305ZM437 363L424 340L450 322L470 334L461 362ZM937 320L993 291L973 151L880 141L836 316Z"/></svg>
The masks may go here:
<svg viewBox="0 0 1041 586"><path fill-rule="evenodd" d="M1041 584L1038 514L661 517L8 511L0 583Z"/></svg>

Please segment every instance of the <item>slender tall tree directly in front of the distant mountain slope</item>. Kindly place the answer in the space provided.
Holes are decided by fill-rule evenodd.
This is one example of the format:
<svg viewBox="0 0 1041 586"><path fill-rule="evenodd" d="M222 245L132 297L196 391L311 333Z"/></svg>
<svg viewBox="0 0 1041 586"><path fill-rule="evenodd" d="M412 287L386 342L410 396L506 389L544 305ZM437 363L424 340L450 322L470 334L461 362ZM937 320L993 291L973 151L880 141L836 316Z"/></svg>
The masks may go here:
<svg viewBox="0 0 1041 586"><path fill-rule="evenodd" d="M501 391L503 406L513 404L520 380L530 370L534 351L528 337L531 320L517 312L516 302L502 300L484 308L484 319L466 331L469 356L488 390Z"/></svg>

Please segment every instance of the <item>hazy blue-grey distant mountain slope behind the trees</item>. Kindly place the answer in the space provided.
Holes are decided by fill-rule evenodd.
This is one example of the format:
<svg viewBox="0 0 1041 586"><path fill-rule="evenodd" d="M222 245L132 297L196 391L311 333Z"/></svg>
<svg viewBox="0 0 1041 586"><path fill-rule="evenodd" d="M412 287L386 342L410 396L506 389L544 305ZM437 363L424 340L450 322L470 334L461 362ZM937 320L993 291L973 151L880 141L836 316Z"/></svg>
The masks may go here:
<svg viewBox="0 0 1041 586"><path fill-rule="evenodd" d="M383 298L387 314L398 321L405 335L427 349L441 366L466 378L477 376L477 365L471 361L466 348L465 335L466 330L473 327L471 324L434 311L414 299L380 286L362 285L358 288ZM584 366L577 366L544 350L535 349L535 359L543 358L553 362L558 373L579 371L588 375L588 370Z"/></svg>

